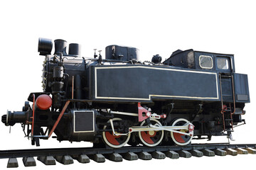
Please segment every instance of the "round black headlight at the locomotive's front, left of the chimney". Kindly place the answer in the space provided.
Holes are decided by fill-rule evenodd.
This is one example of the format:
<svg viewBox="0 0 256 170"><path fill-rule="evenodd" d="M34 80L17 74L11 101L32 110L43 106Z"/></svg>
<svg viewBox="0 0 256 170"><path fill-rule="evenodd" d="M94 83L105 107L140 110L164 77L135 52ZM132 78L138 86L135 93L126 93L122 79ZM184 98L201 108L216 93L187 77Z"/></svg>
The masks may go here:
<svg viewBox="0 0 256 170"><path fill-rule="evenodd" d="M38 52L39 55L50 55L51 50L53 49L53 42L48 38L39 38L38 39Z"/></svg>

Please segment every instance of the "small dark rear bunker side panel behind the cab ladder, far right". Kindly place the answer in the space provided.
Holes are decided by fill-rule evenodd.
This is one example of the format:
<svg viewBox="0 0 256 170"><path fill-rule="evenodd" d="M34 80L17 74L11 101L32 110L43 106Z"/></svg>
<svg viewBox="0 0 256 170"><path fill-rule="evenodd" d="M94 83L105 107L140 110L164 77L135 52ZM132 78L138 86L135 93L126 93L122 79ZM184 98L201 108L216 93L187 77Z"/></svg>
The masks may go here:
<svg viewBox="0 0 256 170"><path fill-rule="evenodd" d="M250 103L249 86L247 74L234 74L235 101Z"/></svg>

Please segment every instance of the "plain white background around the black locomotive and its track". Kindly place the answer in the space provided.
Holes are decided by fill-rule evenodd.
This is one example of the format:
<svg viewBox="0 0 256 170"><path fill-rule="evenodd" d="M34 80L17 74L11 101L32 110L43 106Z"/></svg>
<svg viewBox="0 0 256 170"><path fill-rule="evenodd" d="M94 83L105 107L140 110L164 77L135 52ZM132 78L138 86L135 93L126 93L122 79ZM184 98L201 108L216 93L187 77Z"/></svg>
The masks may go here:
<svg viewBox="0 0 256 170"><path fill-rule="evenodd" d="M175 50L202 50L235 55L235 69L248 74L251 103L247 125L235 129L236 143L256 143L255 137L255 4L253 1L1 1L0 2L0 115L21 111L31 92L42 91L44 57L37 52L38 38L78 42L82 56L107 45L128 45L140 50L142 60L159 54L164 59ZM0 149L36 148L23 137L20 125L0 123ZM198 141L196 141L198 142ZM227 142L213 137L213 142ZM235 143L233 142L233 143ZM41 140L42 147L87 147ZM105 164L37 166L29 169L241 169L253 165L256 155L172 160L123 161ZM5 169L7 159L0 159ZM19 169L24 169L18 159ZM251 167L252 168L252 167Z"/></svg>

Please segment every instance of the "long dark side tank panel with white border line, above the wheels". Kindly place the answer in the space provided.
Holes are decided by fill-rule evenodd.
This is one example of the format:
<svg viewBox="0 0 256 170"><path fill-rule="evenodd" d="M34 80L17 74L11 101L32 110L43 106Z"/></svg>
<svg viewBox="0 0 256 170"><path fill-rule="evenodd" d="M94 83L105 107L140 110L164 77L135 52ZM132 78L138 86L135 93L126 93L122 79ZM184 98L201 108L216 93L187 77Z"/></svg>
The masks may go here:
<svg viewBox="0 0 256 170"><path fill-rule="evenodd" d="M151 101L152 98L219 101L214 72L195 72L166 67L95 67L92 99ZM92 89L91 89L92 90Z"/></svg>

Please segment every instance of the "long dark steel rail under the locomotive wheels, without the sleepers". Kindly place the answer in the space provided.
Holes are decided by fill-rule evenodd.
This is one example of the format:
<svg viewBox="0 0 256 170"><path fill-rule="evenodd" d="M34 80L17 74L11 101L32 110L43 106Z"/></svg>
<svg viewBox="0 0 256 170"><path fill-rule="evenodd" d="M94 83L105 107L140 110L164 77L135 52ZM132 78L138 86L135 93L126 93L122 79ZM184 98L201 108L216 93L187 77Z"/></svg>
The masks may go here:
<svg viewBox="0 0 256 170"><path fill-rule="evenodd" d="M52 149L14 149L0 150L0 159L18 158L18 157L43 157L43 156L63 156L80 154L123 154L127 152L166 152L166 151L190 151L193 149L236 149L236 148L256 148L256 144L192 144L188 146L157 146L157 147L121 147L121 148L93 148L93 147L72 147L72 148L52 148Z"/></svg>

